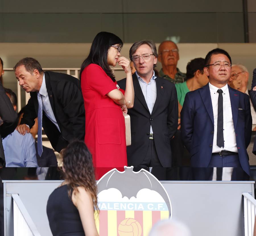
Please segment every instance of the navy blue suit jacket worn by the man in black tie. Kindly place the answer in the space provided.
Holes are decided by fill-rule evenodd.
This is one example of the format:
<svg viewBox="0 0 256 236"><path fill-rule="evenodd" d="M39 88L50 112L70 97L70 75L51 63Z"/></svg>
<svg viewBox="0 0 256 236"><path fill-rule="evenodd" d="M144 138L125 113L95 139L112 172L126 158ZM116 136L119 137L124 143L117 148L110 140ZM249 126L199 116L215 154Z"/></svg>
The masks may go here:
<svg viewBox="0 0 256 236"><path fill-rule="evenodd" d="M249 175L246 151L251 140L252 126L249 96L230 86L228 90L239 159L243 170ZM213 122L209 84L188 92L181 110L181 139L190 152L192 167L208 167L212 156Z"/></svg>

